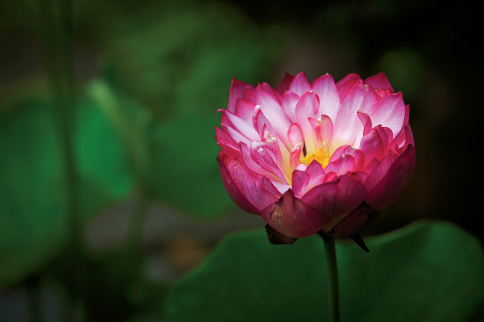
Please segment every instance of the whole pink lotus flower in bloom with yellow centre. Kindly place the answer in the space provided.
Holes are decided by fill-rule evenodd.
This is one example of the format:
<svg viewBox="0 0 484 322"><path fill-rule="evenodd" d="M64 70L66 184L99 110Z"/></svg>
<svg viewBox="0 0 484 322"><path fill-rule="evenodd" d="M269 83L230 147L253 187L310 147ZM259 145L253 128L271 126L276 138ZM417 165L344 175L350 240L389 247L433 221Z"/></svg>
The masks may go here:
<svg viewBox="0 0 484 322"><path fill-rule="evenodd" d="M219 111L225 190L278 238L355 234L413 172L409 105L384 73L336 84L329 74L309 83L304 72L286 73L276 89L233 78Z"/></svg>

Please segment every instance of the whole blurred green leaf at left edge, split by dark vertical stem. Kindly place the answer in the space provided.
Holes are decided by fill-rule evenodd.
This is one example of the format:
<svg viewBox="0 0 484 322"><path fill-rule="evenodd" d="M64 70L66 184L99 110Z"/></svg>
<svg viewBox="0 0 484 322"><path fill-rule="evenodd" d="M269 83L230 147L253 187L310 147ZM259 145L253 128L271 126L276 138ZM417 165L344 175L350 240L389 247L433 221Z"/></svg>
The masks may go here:
<svg viewBox="0 0 484 322"><path fill-rule="evenodd" d="M125 198L134 177L103 111L86 99L77 107L74 154L87 219ZM67 241L64 165L52 111L48 101L30 100L0 117L0 288L38 269Z"/></svg>

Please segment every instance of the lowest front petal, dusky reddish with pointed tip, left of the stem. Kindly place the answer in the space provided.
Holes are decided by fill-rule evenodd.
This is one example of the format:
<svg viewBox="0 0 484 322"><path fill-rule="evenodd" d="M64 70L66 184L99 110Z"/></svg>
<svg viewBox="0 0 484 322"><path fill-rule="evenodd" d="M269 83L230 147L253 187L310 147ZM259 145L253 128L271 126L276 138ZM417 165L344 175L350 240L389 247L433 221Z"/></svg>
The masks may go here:
<svg viewBox="0 0 484 322"><path fill-rule="evenodd" d="M262 210L261 215L271 227L291 237L311 236L331 219L295 198L291 189Z"/></svg>

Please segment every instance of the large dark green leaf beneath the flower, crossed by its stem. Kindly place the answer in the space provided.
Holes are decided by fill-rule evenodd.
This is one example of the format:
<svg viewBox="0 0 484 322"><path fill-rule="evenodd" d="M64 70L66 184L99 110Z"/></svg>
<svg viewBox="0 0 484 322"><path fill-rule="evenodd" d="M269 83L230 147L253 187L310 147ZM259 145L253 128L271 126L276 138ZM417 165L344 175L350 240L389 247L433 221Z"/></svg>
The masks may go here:
<svg viewBox="0 0 484 322"><path fill-rule="evenodd" d="M324 241L273 246L265 231L233 234L171 289L170 321L321 321L328 316ZM343 321L457 321L484 300L478 241L443 222L337 245Z"/></svg>

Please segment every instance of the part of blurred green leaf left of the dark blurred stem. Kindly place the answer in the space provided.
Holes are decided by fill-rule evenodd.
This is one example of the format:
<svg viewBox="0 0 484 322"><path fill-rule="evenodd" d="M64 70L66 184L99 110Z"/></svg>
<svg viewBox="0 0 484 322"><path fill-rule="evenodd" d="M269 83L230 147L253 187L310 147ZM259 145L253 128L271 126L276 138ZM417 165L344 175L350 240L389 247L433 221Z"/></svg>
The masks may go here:
<svg viewBox="0 0 484 322"><path fill-rule="evenodd" d="M38 268L66 240L63 165L49 104L0 115L0 288Z"/></svg>

